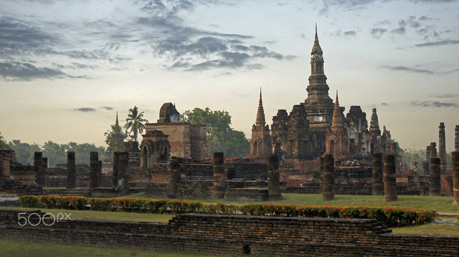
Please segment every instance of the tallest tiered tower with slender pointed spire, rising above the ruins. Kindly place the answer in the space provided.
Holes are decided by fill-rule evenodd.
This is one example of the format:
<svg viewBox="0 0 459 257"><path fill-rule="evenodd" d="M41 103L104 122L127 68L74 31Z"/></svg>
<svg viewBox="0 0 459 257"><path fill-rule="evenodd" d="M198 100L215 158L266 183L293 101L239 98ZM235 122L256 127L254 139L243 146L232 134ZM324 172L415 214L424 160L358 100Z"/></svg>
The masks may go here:
<svg viewBox="0 0 459 257"><path fill-rule="evenodd" d="M309 120L309 131L312 132L314 146L311 151L314 156L321 156L325 153L325 134L331 126L333 109L335 105L328 95L329 87L327 77L324 73L323 52L317 37L317 25L315 40L311 52L311 76L309 76L308 98L304 100L304 105Z"/></svg>

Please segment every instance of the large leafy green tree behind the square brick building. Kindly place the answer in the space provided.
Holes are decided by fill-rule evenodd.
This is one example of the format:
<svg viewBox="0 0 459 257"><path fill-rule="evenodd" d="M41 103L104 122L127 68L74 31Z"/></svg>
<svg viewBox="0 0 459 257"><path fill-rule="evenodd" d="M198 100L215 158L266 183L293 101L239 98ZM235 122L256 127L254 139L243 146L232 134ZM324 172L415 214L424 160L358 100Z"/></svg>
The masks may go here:
<svg viewBox="0 0 459 257"><path fill-rule="evenodd" d="M187 110L180 122L207 125L207 154L223 152L225 157L244 157L250 153L250 141L242 131L231 128L231 116L227 111L212 111L209 108Z"/></svg>

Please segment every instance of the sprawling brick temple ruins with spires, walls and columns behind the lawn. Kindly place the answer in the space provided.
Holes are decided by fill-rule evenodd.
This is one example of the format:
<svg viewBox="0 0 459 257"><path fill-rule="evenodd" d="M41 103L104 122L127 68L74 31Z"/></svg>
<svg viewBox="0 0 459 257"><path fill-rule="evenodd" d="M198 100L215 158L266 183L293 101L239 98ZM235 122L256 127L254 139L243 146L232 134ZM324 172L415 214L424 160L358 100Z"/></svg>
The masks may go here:
<svg viewBox="0 0 459 257"><path fill-rule="evenodd" d="M278 156L282 192L322 193L320 158L333 154L335 163L332 175L336 194L374 194L374 188L381 187L378 185L382 183L382 180L375 182L375 163L382 166L382 158L392 154L398 195L431 194L429 184L433 177L435 185L440 187L439 191L434 191L435 194L453 195L453 171L446 167L443 123L439 126L439 174L435 172L431 175L431 160L437 158L436 143L427 146L426 160L420 164L422 171L418 174L415 170L403 167L402 157L392 143L390 131L385 126L382 131L380 129L376 109L372 109L369 126L365 112L358 105L352 105L345 115L345 108L339 104L338 92L335 103L330 98L326 79L323 51L316 29L311 51L308 97L304 102L294 105L290 113L286 109L279 109L269 128L260 91L250 153L245 158L223 160L225 198L247 201L267 199L268 156L271 154ZM10 186L3 186L2 191L9 191L12 184L22 183L24 189L17 189L11 195L40 192L94 196L98 191L98 194L111 196L129 193L129 188L137 188L145 190L151 197L168 197L171 195L171 181L175 181L176 197L210 198L214 187L214 160L207 157L206 125L179 122L179 115L175 104L162 104L157 123L146 124L140 145L138 142L125 142L123 152L115 153L113 162L108 156L99 160L91 155L90 166L67 162L56 165L56 168L48 168L46 158L37 153L34 165L27 166L11 163L12 153L3 151L2 174L9 175L2 176L1 181ZM456 133L457 130L456 126ZM457 137L456 141L459 140ZM375 154L379 154L379 161L375 159ZM126 160L122 161L123 158ZM9 169L8 162L11 163ZM73 166L69 171L69 167ZM436 169L437 166L433 167ZM69 180L72 180L70 184ZM91 184L91 180L94 183ZM67 190L41 191L43 187L67 187ZM110 190L104 191L102 188Z"/></svg>

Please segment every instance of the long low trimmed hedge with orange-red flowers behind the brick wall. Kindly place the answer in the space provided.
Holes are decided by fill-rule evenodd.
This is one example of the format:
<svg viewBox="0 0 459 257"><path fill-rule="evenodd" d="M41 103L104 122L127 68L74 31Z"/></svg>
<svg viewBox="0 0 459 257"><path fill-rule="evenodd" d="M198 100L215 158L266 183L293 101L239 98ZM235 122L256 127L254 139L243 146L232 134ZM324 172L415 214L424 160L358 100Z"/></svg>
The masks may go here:
<svg viewBox="0 0 459 257"><path fill-rule="evenodd" d="M87 204L94 211L120 211L129 213L204 213L226 215L264 215L282 217L323 217L376 219L387 227L424 224L437 214L434 210L406 207L333 207L296 204L246 203L243 205L203 203L187 200L151 200L142 198L86 198L77 196L21 196L19 202L28 208L62 208L83 210Z"/></svg>

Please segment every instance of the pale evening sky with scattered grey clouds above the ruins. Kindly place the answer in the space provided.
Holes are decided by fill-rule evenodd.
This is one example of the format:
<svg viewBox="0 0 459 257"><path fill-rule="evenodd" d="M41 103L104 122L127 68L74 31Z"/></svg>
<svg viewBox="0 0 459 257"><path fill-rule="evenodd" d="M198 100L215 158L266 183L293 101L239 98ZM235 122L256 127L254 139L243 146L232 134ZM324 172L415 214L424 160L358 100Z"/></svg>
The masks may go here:
<svg viewBox="0 0 459 257"><path fill-rule="evenodd" d="M458 0L0 0L6 141L106 146L137 106L225 110L251 137L308 97L317 23L330 97L377 109L402 148L459 125ZM139 138L141 140L141 138Z"/></svg>

